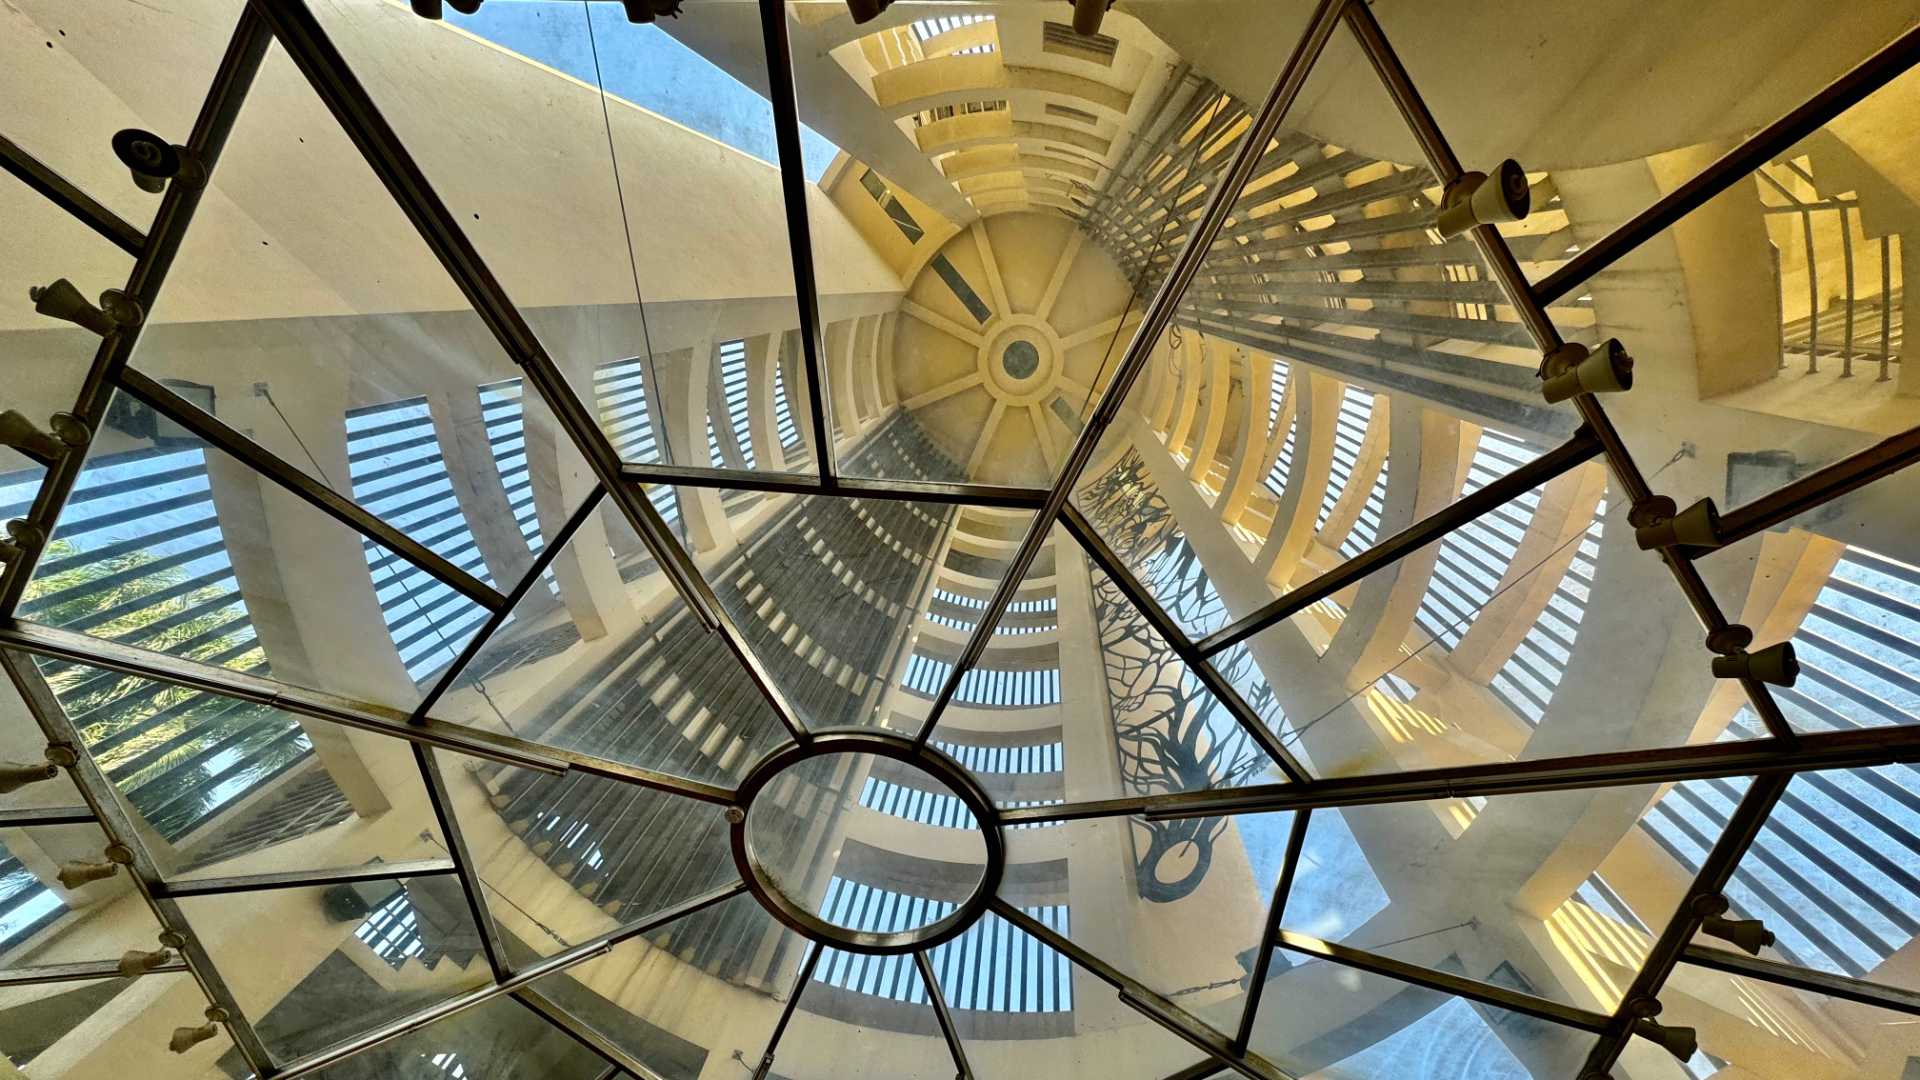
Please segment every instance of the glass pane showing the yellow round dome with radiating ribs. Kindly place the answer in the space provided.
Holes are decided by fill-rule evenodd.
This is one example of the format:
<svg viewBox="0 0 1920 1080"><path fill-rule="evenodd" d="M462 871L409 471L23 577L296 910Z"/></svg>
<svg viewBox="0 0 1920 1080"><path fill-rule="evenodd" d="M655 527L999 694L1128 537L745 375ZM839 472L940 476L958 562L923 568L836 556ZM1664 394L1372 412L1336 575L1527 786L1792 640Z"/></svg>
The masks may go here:
<svg viewBox="0 0 1920 1080"><path fill-rule="evenodd" d="M826 6L793 8L801 117L841 152L820 181L841 213L810 208L822 296L868 288L874 269L908 290L876 384L843 380L833 409L864 423L900 402L968 479L1044 484L1306 10L1144 4L1091 37L1064 12L947 13L895 4L847 40ZM1221 86L1175 48L1263 60L1227 65ZM849 79L868 108L849 108ZM858 259L839 250L849 231Z"/></svg>

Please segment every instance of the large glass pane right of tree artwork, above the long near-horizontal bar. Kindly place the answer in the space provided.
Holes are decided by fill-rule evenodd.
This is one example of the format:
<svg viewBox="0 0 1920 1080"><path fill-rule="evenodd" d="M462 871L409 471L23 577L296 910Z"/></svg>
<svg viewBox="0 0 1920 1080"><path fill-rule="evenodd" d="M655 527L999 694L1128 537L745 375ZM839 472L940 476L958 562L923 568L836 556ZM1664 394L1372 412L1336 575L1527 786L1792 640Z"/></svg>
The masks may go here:
<svg viewBox="0 0 1920 1080"><path fill-rule="evenodd" d="M1703 675L1711 653L1584 469L1210 663L1323 778L1764 734L1730 680L1699 684L1690 709L1663 703L1661 665L1692 657Z"/></svg>

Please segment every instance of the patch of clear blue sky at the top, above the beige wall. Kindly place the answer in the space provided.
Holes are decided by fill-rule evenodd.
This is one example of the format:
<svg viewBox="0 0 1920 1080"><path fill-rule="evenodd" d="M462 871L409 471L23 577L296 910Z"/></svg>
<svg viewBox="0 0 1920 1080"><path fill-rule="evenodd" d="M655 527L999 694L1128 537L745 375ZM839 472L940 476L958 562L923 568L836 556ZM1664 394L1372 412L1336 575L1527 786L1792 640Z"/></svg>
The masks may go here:
<svg viewBox="0 0 1920 1080"><path fill-rule="evenodd" d="M582 10L591 12L591 40L589 15ZM447 8L447 21L584 83L595 83L597 48L607 92L762 161L780 163L780 154L774 150L774 110L766 98L657 25L628 23L618 4L493 0L480 8L478 15L461 15ZM806 179L820 183L837 148L801 125L801 150Z"/></svg>

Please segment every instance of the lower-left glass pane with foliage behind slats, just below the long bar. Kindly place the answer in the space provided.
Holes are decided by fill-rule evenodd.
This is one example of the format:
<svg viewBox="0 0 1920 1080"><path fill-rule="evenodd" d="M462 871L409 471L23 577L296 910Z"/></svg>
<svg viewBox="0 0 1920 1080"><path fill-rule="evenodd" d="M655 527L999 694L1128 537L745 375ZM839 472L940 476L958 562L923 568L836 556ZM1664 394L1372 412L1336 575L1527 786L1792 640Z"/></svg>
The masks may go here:
<svg viewBox="0 0 1920 1080"><path fill-rule="evenodd" d="M169 880L445 855L409 744L40 661Z"/></svg>

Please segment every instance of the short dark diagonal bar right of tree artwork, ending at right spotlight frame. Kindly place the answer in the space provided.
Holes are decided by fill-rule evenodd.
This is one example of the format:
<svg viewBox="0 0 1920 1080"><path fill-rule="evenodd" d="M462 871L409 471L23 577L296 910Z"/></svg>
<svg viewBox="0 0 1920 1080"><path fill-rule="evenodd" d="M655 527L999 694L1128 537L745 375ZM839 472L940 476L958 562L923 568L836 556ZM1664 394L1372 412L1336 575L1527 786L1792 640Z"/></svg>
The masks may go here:
<svg viewBox="0 0 1920 1080"><path fill-rule="evenodd" d="M1484 488L1459 498L1452 505L1440 507L1438 511L1415 521L1407 528L1380 540L1373 548L1367 548L1359 555L1340 563L1338 567L1319 575L1317 578L1306 582L1300 588L1288 590L1271 603L1261 605L1258 611L1235 619L1233 623L1213 630L1212 634L1200 638L1200 655L1213 655L1223 650L1252 638L1254 634L1292 619L1300 611L1313 607L1321 600L1340 592L1342 588L1357 582L1359 578L1379 571L1380 567L1392 565L1409 553L1440 540L1448 532L1461 528L1469 521L1478 519L1484 513L1496 511L1501 505L1524 496L1526 492L1538 488L1571 473L1572 469L1592 461L1601 454L1601 442L1594 434L1592 427L1582 427L1563 442L1561 446L1534 457L1526 465L1492 480Z"/></svg>

